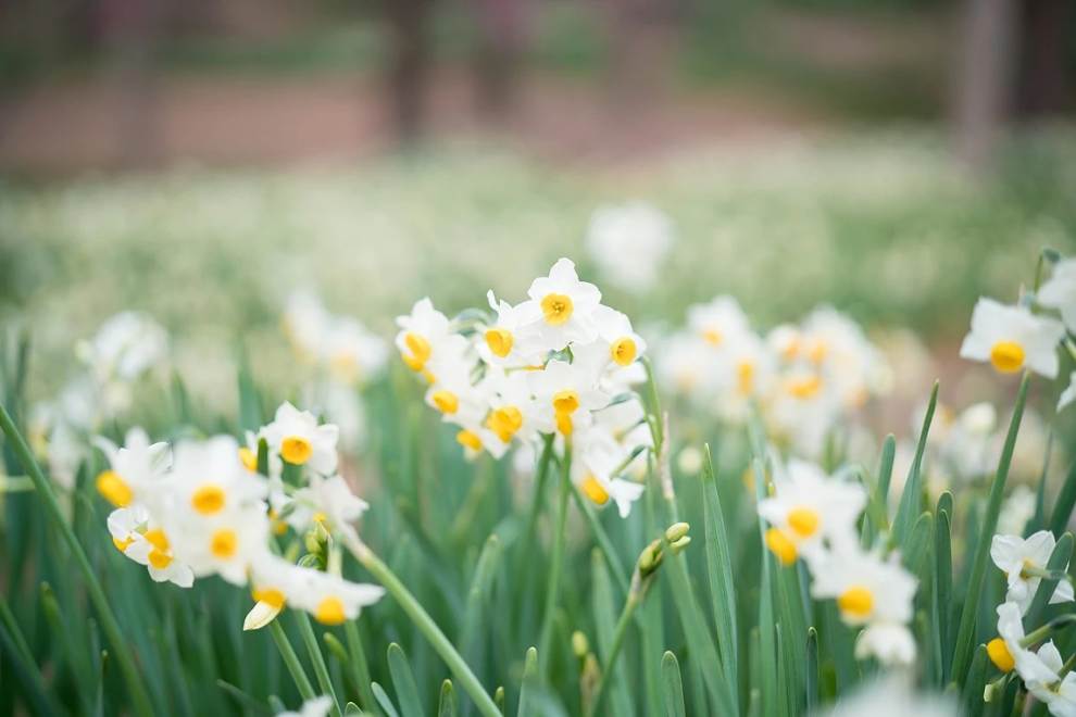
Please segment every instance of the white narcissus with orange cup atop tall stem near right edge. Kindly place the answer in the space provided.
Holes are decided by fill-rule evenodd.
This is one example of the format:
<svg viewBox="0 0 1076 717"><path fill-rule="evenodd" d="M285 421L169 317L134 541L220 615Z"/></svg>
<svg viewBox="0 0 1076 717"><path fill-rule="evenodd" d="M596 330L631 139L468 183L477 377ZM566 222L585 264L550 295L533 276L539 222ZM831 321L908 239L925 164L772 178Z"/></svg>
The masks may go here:
<svg viewBox="0 0 1076 717"><path fill-rule="evenodd" d="M1058 343L1065 336L1061 322L1036 316L1023 306L979 299L972 314L972 330L960 355L989 361L1002 374L1028 368L1047 378L1058 375Z"/></svg>

